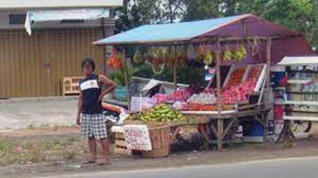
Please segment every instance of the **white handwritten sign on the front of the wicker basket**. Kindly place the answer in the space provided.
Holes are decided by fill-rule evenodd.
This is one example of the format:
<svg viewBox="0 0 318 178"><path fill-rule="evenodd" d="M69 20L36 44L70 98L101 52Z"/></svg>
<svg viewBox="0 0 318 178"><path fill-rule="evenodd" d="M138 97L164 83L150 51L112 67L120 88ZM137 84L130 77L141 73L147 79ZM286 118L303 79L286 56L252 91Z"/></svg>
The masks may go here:
<svg viewBox="0 0 318 178"><path fill-rule="evenodd" d="M152 150L147 125L124 125L123 127L128 150Z"/></svg>

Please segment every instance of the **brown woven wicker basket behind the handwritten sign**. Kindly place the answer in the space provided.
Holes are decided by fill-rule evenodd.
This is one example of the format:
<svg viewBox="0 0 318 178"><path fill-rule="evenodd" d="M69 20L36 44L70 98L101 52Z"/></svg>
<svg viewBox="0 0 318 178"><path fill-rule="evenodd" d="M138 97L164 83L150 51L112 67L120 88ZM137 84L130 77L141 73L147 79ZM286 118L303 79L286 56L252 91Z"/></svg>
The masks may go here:
<svg viewBox="0 0 318 178"><path fill-rule="evenodd" d="M144 158L160 158L169 156L170 127L169 125L149 128L149 135L153 146L152 151L142 151Z"/></svg>

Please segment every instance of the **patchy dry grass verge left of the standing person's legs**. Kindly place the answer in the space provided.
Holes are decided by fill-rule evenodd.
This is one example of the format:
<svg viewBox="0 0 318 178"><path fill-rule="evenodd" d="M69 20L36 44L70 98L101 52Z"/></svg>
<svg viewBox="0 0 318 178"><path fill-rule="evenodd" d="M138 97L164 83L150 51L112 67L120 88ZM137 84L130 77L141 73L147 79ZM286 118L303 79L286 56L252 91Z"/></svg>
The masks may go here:
<svg viewBox="0 0 318 178"><path fill-rule="evenodd" d="M76 136L0 138L0 165L72 160L83 157L86 149L86 142Z"/></svg>

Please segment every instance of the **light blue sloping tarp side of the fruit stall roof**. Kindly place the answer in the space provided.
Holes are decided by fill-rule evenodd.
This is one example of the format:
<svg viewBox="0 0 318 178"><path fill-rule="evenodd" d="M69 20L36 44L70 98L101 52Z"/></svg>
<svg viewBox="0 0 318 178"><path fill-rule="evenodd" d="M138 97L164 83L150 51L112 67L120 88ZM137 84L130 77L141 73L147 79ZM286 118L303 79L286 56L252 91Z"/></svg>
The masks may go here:
<svg viewBox="0 0 318 178"><path fill-rule="evenodd" d="M251 14L182 23L143 25L94 42L96 45L142 44L191 40Z"/></svg>

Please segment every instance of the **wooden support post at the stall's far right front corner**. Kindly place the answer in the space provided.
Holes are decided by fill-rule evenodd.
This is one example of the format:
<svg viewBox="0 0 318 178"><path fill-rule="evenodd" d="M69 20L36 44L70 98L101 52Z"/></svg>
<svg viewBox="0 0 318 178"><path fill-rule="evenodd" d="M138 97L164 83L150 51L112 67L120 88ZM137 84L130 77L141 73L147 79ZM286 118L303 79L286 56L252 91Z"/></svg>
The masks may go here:
<svg viewBox="0 0 318 178"><path fill-rule="evenodd" d="M265 93L264 93L264 103L265 108L272 109L271 103L270 103L270 56L271 56L271 38L268 38L266 41L266 85L265 85ZM263 131L263 142L265 146L267 145L267 136L268 136L268 120L269 120L269 114L265 113L264 115L264 131Z"/></svg>

